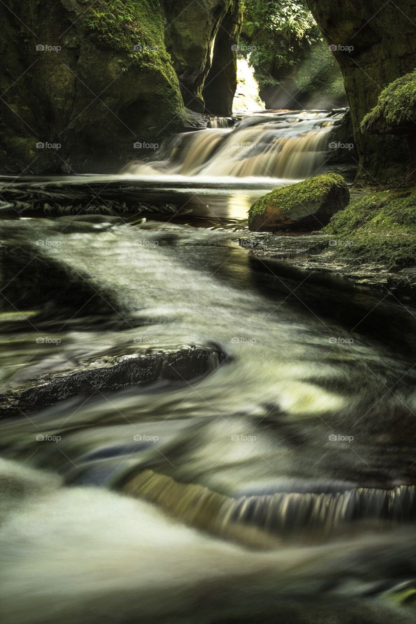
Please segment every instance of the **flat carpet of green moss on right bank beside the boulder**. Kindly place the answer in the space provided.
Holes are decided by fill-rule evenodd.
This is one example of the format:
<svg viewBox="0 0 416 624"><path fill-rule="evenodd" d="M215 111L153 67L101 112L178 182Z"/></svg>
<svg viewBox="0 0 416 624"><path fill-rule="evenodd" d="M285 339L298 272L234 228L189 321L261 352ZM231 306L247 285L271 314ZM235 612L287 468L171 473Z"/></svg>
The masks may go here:
<svg viewBox="0 0 416 624"><path fill-rule="evenodd" d="M392 268L416 263L416 190L384 191L350 203L324 230L345 245L339 255L380 262Z"/></svg>

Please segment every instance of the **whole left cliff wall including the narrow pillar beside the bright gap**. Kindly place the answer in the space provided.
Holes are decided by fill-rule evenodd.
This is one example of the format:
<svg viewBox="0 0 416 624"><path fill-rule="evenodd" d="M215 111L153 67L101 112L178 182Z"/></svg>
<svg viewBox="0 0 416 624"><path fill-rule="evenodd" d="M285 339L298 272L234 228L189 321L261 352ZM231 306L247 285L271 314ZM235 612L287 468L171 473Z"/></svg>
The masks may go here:
<svg viewBox="0 0 416 624"><path fill-rule="evenodd" d="M119 172L164 137L201 127L201 115L184 107L182 94L204 109L202 87L219 32L206 94L215 88L213 112L228 114L239 1L193 2L179 15L186 4L0 3L0 172Z"/></svg>

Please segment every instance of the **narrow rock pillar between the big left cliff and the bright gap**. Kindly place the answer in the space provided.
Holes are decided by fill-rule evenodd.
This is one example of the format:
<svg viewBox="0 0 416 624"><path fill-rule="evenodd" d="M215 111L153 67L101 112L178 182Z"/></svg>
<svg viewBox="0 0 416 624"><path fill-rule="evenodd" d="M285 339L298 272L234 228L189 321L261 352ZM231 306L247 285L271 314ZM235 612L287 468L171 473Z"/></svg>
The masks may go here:
<svg viewBox="0 0 416 624"><path fill-rule="evenodd" d="M186 106L197 112L231 115L242 26L240 0L161 0L161 4L166 47Z"/></svg>

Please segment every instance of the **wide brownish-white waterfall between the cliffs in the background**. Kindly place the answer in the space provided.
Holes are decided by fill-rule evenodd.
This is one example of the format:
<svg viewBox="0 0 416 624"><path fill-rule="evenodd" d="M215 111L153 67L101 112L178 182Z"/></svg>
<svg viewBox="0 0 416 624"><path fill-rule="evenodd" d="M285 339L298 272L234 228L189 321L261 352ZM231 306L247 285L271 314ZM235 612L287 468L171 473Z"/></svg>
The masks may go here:
<svg viewBox="0 0 416 624"><path fill-rule="evenodd" d="M128 173L212 178L301 180L325 163L334 117L322 112L215 118L210 128L171 137Z"/></svg>

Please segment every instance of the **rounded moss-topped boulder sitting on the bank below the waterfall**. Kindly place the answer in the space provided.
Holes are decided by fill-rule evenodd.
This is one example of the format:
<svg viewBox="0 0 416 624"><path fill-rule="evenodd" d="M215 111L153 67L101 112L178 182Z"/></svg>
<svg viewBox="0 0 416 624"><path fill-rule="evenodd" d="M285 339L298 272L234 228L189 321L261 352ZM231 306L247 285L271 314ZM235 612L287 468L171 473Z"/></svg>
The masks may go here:
<svg viewBox="0 0 416 624"><path fill-rule="evenodd" d="M323 173L260 197L249 210L249 229L254 232L319 230L349 200L349 188L342 175Z"/></svg>

